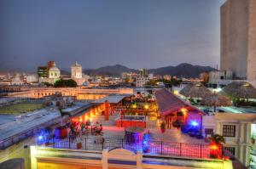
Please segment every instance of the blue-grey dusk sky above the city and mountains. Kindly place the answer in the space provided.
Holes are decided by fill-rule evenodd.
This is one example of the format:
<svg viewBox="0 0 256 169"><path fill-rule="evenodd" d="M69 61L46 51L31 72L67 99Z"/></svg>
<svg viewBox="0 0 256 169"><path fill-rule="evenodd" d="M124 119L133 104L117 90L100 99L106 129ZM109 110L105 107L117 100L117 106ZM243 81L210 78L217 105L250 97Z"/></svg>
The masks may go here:
<svg viewBox="0 0 256 169"><path fill-rule="evenodd" d="M0 69L219 64L224 0L1 0Z"/></svg>

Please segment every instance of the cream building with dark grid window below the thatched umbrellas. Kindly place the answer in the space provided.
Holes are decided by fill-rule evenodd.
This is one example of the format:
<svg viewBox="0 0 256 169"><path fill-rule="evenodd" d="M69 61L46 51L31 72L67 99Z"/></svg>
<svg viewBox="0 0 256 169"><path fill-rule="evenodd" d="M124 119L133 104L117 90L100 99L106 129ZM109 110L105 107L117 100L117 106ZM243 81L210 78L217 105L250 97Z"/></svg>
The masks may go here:
<svg viewBox="0 0 256 169"><path fill-rule="evenodd" d="M256 136L256 114L252 113L215 113L202 116L204 136L218 133L225 138L224 149L229 150L241 163L249 166L256 164L256 151L252 138Z"/></svg>

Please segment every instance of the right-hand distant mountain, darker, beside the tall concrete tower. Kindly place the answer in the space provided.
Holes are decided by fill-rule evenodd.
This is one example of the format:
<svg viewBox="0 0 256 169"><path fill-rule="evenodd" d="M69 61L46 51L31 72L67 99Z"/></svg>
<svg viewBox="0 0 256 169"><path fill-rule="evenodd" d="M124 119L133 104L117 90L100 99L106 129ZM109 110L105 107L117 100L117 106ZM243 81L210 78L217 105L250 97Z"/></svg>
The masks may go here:
<svg viewBox="0 0 256 169"><path fill-rule="evenodd" d="M177 77L199 77L202 72L209 72L212 70L216 70L210 66L201 66L201 65L190 65L190 64L180 64L177 66L166 66L160 67L157 69L148 70L149 73L154 73L154 75L171 75Z"/></svg>

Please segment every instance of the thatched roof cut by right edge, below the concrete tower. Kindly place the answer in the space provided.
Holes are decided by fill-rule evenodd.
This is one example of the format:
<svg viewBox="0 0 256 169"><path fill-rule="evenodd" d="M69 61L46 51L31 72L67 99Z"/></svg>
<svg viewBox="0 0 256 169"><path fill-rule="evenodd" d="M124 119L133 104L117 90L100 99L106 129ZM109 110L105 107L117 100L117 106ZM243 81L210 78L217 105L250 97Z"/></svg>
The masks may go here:
<svg viewBox="0 0 256 169"><path fill-rule="evenodd" d="M230 82L222 89L221 94L230 98L256 99L256 88L248 82Z"/></svg>

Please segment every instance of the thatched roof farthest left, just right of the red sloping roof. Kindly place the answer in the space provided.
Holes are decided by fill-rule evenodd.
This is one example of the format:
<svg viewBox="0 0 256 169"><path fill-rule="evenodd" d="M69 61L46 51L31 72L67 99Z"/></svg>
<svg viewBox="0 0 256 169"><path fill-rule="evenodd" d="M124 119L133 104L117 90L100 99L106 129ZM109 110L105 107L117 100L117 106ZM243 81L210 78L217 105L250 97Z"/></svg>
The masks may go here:
<svg viewBox="0 0 256 169"><path fill-rule="evenodd" d="M189 84L183 87L179 93L187 98L205 98L212 94L201 82Z"/></svg>

